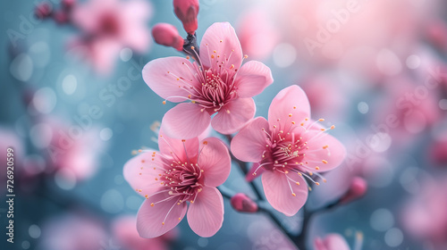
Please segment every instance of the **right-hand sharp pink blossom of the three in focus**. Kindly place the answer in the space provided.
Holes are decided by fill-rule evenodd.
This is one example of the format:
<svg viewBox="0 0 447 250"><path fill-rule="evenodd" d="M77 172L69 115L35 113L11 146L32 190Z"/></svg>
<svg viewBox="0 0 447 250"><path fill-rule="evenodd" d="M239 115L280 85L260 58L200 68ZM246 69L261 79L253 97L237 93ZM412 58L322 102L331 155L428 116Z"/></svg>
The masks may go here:
<svg viewBox="0 0 447 250"><path fill-rule="evenodd" d="M317 124L323 119L312 121L309 115L304 91L295 85L286 87L270 104L268 121L258 117L232 139L232 154L258 163L253 174L264 171L267 201L288 216L298 212L308 198L303 176L332 170L346 154L344 146Z"/></svg>

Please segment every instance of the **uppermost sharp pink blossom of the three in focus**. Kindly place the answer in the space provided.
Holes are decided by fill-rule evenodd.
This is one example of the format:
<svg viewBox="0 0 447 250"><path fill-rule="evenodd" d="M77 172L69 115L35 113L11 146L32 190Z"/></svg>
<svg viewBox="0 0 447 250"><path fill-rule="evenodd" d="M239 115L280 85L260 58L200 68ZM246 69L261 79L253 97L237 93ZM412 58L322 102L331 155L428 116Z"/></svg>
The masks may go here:
<svg viewBox="0 0 447 250"><path fill-rule="evenodd" d="M251 97L273 82L263 63L251 61L240 67L242 50L228 22L209 27L199 51L196 63L167 57L143 69L143 79L158 96L174 103L190 101L164 114L162 129L169 137L197 137L210 122L220 133L236 132L255 115Z"/></svg>

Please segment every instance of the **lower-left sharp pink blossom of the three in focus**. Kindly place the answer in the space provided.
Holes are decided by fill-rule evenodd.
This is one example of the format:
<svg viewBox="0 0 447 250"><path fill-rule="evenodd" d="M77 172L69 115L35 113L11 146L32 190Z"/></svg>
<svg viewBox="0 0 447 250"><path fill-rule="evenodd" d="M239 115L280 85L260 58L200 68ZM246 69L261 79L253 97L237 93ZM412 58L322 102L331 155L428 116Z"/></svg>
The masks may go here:
<svg viewBox="0 0 447 250"><path fill-rule="evenodd" d="M190 228L211 237L222 227L223 197L217 186L231 170L227 147L217 138L173 139L161 129L160 151L139 154L124 165L124 178L147 200L139 208L141 237L158 237L173 229L188 210Z"/></svg>

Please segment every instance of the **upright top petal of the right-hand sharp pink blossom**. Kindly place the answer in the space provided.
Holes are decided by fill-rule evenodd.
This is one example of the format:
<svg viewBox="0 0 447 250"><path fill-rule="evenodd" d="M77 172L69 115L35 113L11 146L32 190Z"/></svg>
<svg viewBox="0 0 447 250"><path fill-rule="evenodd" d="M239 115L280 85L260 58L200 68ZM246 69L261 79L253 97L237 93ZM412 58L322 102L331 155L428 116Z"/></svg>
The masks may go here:
<svg viewBox="0 0 447 250"><path fill-rule="evenodd" d="M289 117L289 114L291 114L291 117ZM299 123L308 117L310 117L308 96L297 85L281 90L278 95L274 96L274 100L268 109L270 126L279 124L278 127L283 128L283 130L288 130L291 121Z"/></svg>

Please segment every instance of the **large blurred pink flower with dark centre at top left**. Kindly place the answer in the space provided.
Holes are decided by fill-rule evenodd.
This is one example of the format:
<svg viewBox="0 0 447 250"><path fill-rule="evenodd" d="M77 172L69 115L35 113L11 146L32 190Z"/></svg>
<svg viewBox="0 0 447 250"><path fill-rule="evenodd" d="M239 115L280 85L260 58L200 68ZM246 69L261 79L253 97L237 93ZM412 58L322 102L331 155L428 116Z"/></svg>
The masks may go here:
<svg viewBox="0 0 447 250"><path fill-rule="evenodd" d="M72 46L87 48L89 61L101 73L114 68L122 48L148 50L151 6L143 0L89 0L72 7L72 22L83 32Z"/></svg>

